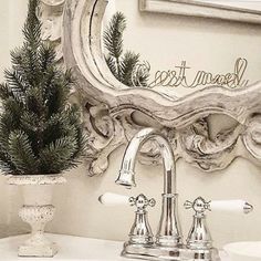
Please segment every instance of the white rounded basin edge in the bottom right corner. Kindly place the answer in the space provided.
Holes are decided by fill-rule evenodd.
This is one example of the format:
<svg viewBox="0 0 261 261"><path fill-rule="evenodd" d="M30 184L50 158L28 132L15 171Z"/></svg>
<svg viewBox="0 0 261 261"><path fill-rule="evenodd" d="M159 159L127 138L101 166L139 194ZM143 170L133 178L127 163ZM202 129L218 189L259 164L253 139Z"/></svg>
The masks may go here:
<svg viewBox="0 0 261 261"><path fill-rule="evenodd" d="M261 241L229 243L223 249L231 261L261 261Z"/></svg>

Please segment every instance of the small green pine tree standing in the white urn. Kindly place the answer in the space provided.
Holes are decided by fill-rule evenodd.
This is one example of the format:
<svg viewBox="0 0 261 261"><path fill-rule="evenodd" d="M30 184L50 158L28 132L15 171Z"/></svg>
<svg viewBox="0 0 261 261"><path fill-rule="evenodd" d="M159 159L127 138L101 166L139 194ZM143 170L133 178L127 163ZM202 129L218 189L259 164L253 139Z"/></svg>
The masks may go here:
<svg viewBox="0 0 261 261"><path fill-rule="evenodd" d="M0 167L6 175L59 174L75 167L86 147L79 108L69 105L74 82L41 40L40 0L29 0L24 43L11 52L0 85Z"/></svg>

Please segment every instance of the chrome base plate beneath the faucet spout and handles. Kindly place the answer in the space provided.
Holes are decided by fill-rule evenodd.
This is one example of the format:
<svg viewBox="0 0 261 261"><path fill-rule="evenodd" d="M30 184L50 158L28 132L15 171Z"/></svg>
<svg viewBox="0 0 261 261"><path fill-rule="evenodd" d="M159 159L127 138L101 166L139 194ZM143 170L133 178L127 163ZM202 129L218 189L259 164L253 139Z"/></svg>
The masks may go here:
<svg viewBox="0 0 261 261"><path fill-rule="evenodd" d="M155 244L140 246L124 243L123 257L150 261L220 261L218 250L190 250L185 246L178 248L158 247Z"/></svg>

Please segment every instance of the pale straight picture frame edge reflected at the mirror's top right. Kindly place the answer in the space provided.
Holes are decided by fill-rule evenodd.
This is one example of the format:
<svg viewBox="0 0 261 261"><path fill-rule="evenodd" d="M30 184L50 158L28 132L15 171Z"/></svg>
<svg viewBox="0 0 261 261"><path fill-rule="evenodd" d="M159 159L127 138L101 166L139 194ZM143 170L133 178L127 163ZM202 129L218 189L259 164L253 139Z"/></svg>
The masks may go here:
<svg viewBox="0 0 261 261"><path fill-rule="evenodd" d="M261 11L205 3L197 0L139 0L139 10L261 24Z"/></svg>

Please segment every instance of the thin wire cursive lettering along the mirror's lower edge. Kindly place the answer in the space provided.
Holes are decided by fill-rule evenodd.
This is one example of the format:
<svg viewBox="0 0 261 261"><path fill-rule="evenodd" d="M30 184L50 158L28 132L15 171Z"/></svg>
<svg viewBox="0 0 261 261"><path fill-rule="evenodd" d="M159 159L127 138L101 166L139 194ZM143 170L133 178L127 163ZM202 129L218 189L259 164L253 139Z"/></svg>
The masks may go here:
<svg viewBox="0 0 261 261"><path fill-rule="evenodd" d="M142 65L144 66L144 65ZM198 71L192 80L187 77L187 71L190 69L187 66L187 62L182 61L179 66L175 66L176 70L157 71L155 79L148 84L148 87L155 86L169 86L169 87L197 87L202 85L222 85L228 87L246 87L249 83L243 79L244 72L248 66L246 59L239 58L236 61L234 70L232 73L216 74L210 72ZM147 66L149 72L150 66Z"/></svg>

